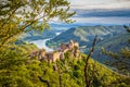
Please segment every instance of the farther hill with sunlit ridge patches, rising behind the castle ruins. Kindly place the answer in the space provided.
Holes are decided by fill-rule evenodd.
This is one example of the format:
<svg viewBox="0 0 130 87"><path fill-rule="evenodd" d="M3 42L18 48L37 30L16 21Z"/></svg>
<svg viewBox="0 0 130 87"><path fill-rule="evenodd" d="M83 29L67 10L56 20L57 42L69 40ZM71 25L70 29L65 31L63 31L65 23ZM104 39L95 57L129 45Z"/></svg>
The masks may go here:
<svg viewBox="0 0 130 87"><path fill-rule="evenodd" d="M99 39L100 39L99 41L101 41L122 33L125 33L123 26L119 26L119 25L73 27L73 28L69 28L68 30L63 32L61 35L56 36L50 41L48 41L48 46L53 44L58 45L60 42L67 42L69 41L69 39L74 39L78 41L81 47L82 46L90 47L95 35L99 36Z"/></svg>

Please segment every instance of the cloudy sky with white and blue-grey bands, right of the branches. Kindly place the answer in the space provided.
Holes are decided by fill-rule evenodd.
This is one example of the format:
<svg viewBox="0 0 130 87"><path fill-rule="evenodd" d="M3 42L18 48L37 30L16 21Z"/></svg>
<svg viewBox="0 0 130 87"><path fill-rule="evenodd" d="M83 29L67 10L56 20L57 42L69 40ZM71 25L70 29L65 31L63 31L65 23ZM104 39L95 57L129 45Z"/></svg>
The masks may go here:
<svg viewBox="0 0 130 87"><path fill-rule="evenodd" d="M68 0L77 23L130 24L130 0Z"/></svg>

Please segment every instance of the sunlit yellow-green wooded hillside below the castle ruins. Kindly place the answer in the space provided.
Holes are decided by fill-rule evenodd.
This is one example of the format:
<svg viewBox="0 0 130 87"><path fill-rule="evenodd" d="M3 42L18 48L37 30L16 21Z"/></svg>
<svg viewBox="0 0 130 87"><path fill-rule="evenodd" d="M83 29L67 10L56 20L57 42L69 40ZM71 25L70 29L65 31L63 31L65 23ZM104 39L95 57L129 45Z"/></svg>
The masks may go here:
<svg viewBox="0 0 130 87"><path fill-rule="evenodd" d="M26 48L26 46L28 48ZM57 60L54 63L40 62L37 58L28 59L31 45L9 48L1 52L0 57L0 86L1 87L84 87L84 60L70 57L70 52L65 53L65 60ZM26 50L26 51L25 51ZM89 60L89 76L92 75L93 87L129 87L130 78L120 75L96 61Z"/></svg>

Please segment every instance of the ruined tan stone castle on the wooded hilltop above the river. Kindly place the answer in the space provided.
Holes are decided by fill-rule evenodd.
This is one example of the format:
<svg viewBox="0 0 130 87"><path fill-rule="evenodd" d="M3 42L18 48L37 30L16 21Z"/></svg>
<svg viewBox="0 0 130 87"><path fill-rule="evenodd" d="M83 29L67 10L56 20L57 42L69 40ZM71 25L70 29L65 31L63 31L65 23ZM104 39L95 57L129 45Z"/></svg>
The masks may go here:
<svg viewBox="0 0 130 87"><path fill-rule="evenodd" d="M56 60L64 60L64 54L69 51L73 57L80 58L79 44L70 40L69 44L61 44L61 48L56 51L46 52L44 49L32 51L29 57L38 57L39 61L55 62Z"/></svg>

